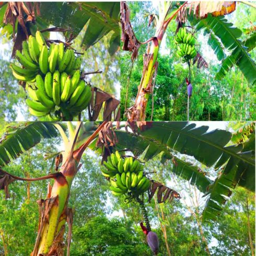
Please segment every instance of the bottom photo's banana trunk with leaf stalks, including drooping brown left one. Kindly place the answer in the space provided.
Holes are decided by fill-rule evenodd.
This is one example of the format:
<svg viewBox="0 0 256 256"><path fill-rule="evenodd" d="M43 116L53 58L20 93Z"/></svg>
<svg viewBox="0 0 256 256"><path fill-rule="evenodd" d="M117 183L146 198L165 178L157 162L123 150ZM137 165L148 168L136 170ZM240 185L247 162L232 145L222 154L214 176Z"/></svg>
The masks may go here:
<svg viewBox="0 0 256 256"><path fill-rule="evenodd" d="M56 172L54 173L39 178L21 178L0 168L0 173L4 173L15 180L36 181L54 179L53 186L48 185L46 200L41 199L38 201L40 207L39 230L31 256L64 255L63 237L66 223L68 223L69 229L67 238L67 255L69 255L73 211L67 207L67 204L72 181L81 166L79 161L85 149L96 138L106 123L105 121L98 125L97 129L89 137L83 122L77 122L76 129L71 122L67 122L68 137L63 127L59 123L55 123L55 128L59 130L62 136L64 150L59 157L56 157L56 159L61 160L56 161L55 159ZM47 134L44 135L46 136ZM7 158L6 161L8 162ZM59 170L61 162L62 165Z"/></svg>

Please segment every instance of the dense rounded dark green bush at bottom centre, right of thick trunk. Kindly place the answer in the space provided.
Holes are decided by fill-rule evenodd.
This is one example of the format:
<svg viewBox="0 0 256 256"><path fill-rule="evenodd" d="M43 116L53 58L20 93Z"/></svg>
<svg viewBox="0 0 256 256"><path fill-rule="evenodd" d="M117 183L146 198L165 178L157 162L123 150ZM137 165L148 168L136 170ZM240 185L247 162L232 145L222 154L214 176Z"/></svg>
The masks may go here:
<svg viewBox="0 0 256 256"><path fill-rule="evenodd" d="M74 227L72 255L150 255L149 248L135 238L131 223L97 216Z"/></svg>

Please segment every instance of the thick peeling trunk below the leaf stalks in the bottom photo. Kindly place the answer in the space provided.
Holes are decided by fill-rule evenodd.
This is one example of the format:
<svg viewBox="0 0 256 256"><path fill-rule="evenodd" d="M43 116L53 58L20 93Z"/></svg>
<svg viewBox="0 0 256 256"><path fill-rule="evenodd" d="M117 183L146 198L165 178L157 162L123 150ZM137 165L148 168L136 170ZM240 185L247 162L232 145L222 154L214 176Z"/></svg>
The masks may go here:
<svg viewBox="0 0 256 256"><path fill-rule="evenodd" d="M41 216L43 218L39 227L40 237L37 239L32 255L63 255L68 197L78 170L74 158L64 159L63 163L60 175L55 178L52 188L49 187L46 201L50 203L44 205L45 212Z"/></svg>

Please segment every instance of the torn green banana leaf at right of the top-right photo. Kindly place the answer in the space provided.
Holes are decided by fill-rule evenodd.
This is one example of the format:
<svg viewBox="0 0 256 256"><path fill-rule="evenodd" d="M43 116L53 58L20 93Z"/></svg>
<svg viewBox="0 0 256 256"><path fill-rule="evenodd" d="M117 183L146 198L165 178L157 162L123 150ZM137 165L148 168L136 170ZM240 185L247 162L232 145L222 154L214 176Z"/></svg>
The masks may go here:
<svg viewBox="0 0 256 256"><path fill-rule="evenodd" d="M256 83L256 64L248 53L252 49L253 38L248 41L247 45L246 42L239 40L242 31L233 27L224 16L213 17L208 14L208 17L202 20L190 16L190 21L197 31L205 28L205 33L210 34L208 43L217 54L218 60L222 61L216 79L222 79L233 65L237 65L249 83ZM222 44L217 41L216 37ZM223 47L230 52L226 58L223 54Z"/></svg>

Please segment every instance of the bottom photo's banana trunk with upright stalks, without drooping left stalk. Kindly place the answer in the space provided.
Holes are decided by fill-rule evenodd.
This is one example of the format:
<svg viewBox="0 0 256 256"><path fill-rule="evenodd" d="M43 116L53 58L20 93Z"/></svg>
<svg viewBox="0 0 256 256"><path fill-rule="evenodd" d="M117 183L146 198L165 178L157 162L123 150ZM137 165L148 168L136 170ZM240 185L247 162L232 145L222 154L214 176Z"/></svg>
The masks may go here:
<svg viewBox="0 0 256 256"><path fill-rule="evenodd" d="M31 256L40 255L64 255L64 232L67 219L72 219L72 210L67 208L69 193L71 191L72 181L79 169L79 161L86 147L97 136L102 127L106 124L103 122L98 129L87 139L87 141L74 151L76 139L80 126L73 136L73 142L67 142L68 147L62 153L63 164L61 170L55 174L54 184L48 186L48 195L46 200L40 200L40 224L36 243ZM72 124L68 122L69 133L74 133ZM62 137L65 137L63 131ZM69 227L70 227L69 223ZM68 248L71 240L71 230L68 232ZM68 254L67 254L68 255Z"/></svg>

